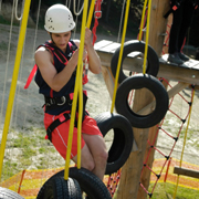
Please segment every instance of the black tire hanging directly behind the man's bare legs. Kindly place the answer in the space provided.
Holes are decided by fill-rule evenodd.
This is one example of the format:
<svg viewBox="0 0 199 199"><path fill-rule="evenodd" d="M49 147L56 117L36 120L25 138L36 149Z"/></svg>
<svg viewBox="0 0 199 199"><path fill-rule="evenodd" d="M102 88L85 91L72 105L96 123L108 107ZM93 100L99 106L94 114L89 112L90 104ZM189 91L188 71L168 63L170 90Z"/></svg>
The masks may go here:
<svg viewBox="0 0 199 199"><path fill-rule="evenodd" d="M111 175L122 168L129 157L134 142L133 128L127 118L116 113L103 113L95 121L104 137L111 129L114 132L105 171L105 175Z"/></svg>

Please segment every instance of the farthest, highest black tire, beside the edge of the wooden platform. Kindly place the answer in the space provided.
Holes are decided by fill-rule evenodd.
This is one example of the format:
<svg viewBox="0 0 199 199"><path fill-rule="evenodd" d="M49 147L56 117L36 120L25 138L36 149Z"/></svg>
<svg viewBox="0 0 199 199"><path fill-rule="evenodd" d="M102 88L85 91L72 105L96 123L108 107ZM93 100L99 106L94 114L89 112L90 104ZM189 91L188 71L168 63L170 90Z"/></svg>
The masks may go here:
<svg viewBox="0 0 199 199"><path fill-rule="evenodd" d="M121 51L121 46L115 51L115 53L113 54L112 61L111 61L111 69L112 69L112 73L113 73L114 77L115 77L116 71L117 71L117 62L118 62L119 51ZM118 77L119 84L125 78L128 77L123 72L123 62L129 53L135 52L135 51L145 53L145 42L133 40L133 41L126 42L124 44L123 59L122 59L122 63L121 63L122 65L121 65L119 77ZM153 76L157 76L158 71L159 71L159 59L158 59L157 53L150 45L148 45L147 61L148 61L148 64L147 64L146 73L150 74Z"/></svg>

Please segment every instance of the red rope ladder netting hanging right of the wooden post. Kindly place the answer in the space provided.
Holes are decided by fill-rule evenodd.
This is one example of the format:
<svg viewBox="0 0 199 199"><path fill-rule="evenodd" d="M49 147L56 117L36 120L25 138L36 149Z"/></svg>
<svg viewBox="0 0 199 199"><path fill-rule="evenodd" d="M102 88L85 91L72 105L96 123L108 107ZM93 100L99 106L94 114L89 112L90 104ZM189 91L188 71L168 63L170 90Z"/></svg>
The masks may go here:
<svg viewBox="0 0 199 199"><path fill-rule="evenodd" d="M170 85L165 78L161 78L161 80L164 80L164 81L171 87L171 85ZM145 169L148 169L153 175L156 176L156 180L155 180L155 184L154 184L150 192L144 187L144 185L143 185L142 182L139 182L139 185L140 185L140 187L144 189L144 191L149 196L149 198L153 197L155 187L156 187L159 178L160 178L161 175L163 175L163 171L164 171L164 168L165 168L166 164L167 164L167 163L170 163L171 154L172 154L174 148L175 148L175 146L176 146L178 139L179 139L179 136L180 136L180 133L181 133L181 130L182 130L182 127L184 127L184 125L185 125L188 116L189 116L190 113L191 113L192 95L193 95L193 94L191 95L191 101L190 101L190 102L188 102L180 93L178 93L178 95L182 98L184 102L186 102L186 103L188 104L189 107L188 107L188 113L187 113L186 117L185 117L185 118L181 118L178 114L176 114L174 111L171 111L171 104L172 104L172 102L174 102L174 97L170 100L168 112L170 112L175 117L177 117L178 121L181 122L181 125L179 125L179 129L178 129L177 136L172 136L170 133L168 133L166 129L164 129L164 127L163 127L163 126L164 126L164 122L165 122L165 118L164 118L164 119L161 121L161 123L160 123L159 125L157 125L158 129L157 129L157 132L156 132L156 135L155 135L155 137L154 137L153 143L150 143L149 140L147 140L147 144L148 144L148 146L150 147L150 149L149 149L149 151L148 151L148 154L147 154L146 159L144 160L144 165L143 165L143 169L142 169L142 175L140 175L140 176L143 176L143 172L144 172ZM158 148L155 146L155 145L156 145L157 137L158 137L158 135L159 135L160 132L164 133L165 135L167 135L169 138L171 138L171 139L175 142L174 145L171 146L170 153L169 153L168 155L166 155L165 153L161 153L160 149L158 149ZM148 161L148 159L149 159L149 156L150 156L150 153L151 153L153 149L154 149L156 153L158 153L159 155L161 155L163 157L165 157L165 163L163 164L163 167L161 167L161 169L160 169L160 171L159 171L158 174L156 174L149 166L147 166L147 161ZM168 167L169 167L169 166L168 166ZM167 172L168 172L168 169L169 169L169 168L167 168ZM166 178L165 178L165 181L166 181Z"/></svg>

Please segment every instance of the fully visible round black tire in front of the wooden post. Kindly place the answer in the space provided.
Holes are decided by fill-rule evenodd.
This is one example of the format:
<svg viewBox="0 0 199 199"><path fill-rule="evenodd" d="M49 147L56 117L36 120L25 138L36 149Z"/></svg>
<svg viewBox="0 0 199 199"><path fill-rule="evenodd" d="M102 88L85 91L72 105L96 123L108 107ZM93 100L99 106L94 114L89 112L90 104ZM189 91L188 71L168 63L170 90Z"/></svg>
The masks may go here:
<svg viewBox="0 0 199 199"><path fill-rule="evenodd" d="M127 102L132 90L148 88L156 98L156 107L148 115L134 113ZM124 115L137 128L149 128L158 124L168 111L169 97L164 85L154 76L148 74L136 74L126 78L117 88L115 107L117 113Z"/></svg>

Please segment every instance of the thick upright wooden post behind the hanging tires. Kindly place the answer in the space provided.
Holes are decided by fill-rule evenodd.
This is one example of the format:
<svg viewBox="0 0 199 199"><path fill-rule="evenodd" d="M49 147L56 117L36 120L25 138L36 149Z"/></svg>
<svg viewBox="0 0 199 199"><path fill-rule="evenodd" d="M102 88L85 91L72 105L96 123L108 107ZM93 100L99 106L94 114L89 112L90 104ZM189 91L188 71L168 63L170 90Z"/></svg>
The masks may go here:
<svg viewBox="0 0 199 199"><path fill-rule="evenodd" d="M150 15L149 44L154 48L158 55L161 54L164 44L164 34L166 33L167 20L164 14L169 9L169 0L153 0ZM134 98L134 112L142 109L153 101L148 91L136 91ZM138 146L137 151L132 151L127 163L122 169L121 182L117 192L117 199L144 199L147 197L144 189L139 187L139 181L148 189L150 171L146 171L145 177L140 178L144 157L146 156L146 146L149 133L149 139L154 138L157 128L149 129L134 128L134 137ZM147 153L147 151L146 151ZM154 161L154 153L151 153L147 165L151 166Z"/></svg>

